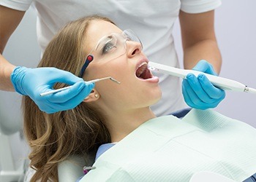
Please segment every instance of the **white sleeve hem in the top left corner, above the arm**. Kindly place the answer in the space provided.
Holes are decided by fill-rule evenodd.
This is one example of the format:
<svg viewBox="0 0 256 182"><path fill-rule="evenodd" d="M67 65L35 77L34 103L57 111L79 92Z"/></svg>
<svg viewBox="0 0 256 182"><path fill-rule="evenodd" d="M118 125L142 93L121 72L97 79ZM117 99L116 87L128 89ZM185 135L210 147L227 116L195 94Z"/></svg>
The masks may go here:
<svg viewBox="0 0 256 182"><path fill-rule="evenodd" d="M1 0L0 5L16 9L20 11L26 11L29 9L33 0Z"/></svg>

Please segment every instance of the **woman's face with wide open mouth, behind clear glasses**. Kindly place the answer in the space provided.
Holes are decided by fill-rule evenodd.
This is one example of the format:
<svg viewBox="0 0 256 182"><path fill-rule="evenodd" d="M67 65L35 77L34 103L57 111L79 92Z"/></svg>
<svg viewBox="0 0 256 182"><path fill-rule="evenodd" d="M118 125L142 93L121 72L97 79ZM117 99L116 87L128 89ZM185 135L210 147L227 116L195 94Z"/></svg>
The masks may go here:
<svg viewBox="0 0 256 182"><path fill-rule="evenodd" d="M94 60L86 68L84 79L112 76L121 82L116 84L106 80L95 84L99 93L99 107L129 110L151 106L162 95L159 78L148 71L148 59L142 52L140 42L124 41L121 33L121 29L108 21L91 21L85 44L86 54L94 55ZM113 42L116 42L116 46Z"/></svg>

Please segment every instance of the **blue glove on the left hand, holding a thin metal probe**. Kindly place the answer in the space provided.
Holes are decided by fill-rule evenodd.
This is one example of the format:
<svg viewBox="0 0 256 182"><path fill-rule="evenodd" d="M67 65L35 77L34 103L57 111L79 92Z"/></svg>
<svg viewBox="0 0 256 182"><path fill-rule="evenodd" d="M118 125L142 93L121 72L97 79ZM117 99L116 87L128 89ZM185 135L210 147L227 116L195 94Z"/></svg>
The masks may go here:
<svg viewBox="0 0 256 182"><path fill-rule="evenodd" d="M29 95L39 109L48 114L75 108L94 88L94 84L87 84L74 74L57 68L16 67L11 74L11 81L16 92ZM43 97L39 95L53 90L56 82L72 87Z"/></svg>

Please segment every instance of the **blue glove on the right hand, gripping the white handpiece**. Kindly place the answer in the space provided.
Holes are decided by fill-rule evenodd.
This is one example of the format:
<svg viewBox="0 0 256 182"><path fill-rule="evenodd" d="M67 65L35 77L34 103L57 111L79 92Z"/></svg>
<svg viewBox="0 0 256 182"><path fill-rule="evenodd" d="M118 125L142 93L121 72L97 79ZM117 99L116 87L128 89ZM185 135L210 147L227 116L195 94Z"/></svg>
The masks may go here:
<svg viewBox="0 0 256 182"><path fill-rule="evenodd" d="M206 60L200 60L193 70L217 75ZM197 77L194 74L188 74L187 79L182 82L182 94L188 106L202 110L215 108L225 98L225 91L214 87L203 74Z"/></svg>

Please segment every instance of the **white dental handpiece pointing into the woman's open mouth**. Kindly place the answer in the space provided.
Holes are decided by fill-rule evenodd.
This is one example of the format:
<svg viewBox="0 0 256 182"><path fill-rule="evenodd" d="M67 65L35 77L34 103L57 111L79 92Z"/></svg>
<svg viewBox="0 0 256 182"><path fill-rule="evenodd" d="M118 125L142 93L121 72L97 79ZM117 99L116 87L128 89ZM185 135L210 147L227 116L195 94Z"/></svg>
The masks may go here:
<svg viewBox="0 0 256 182"><path fill-rule="evenodd" d="M174 68L171 66L165 66L159 63L148 63L148 69L152 71L159 71L159 73L162 74L170 74L172 76L178 76L182 79L186 79L187 74L194 74L195 76L198 76L199 74L204 74L214 86L221 88L222 90L232 90L236 92L251 92L256 94L256 90L250 87L247 87L244 84L241 84L240 82L236 82L232 79L225 79L220 76L214 76L211 74L206 74L200 71L195 70L186 70L186 69L180 69L180 68Z"/></svg>

